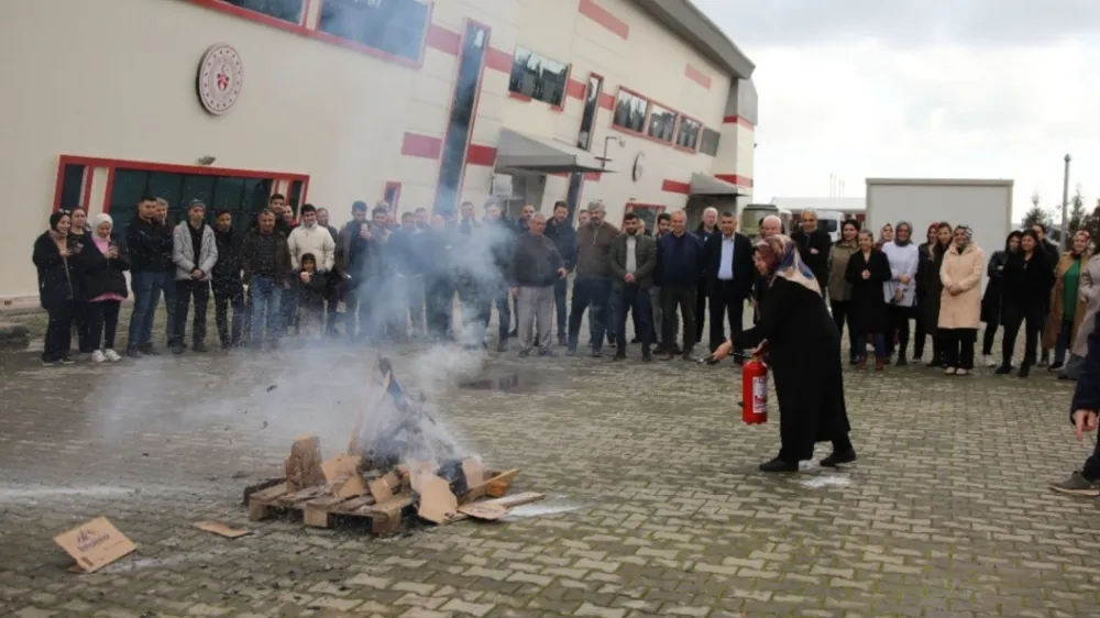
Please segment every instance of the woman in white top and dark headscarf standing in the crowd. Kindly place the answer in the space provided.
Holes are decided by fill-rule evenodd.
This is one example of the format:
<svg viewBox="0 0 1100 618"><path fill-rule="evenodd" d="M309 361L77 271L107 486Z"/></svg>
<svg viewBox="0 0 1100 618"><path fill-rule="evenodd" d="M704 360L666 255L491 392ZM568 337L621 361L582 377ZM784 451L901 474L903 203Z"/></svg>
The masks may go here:
<svg viewBox="0 0 1100 618"><path fill-rule="evenodd" d="M899 221L894 227L893 242L882 245L882 253L890 264L890 280L882 284L887 357L894 352L897 342L898 366L909 364L905 357L909 351L909 321L913 319L913 306L916 304L916 269L921 253L912 243L912 235L913 225L909 221Z"/></svg>

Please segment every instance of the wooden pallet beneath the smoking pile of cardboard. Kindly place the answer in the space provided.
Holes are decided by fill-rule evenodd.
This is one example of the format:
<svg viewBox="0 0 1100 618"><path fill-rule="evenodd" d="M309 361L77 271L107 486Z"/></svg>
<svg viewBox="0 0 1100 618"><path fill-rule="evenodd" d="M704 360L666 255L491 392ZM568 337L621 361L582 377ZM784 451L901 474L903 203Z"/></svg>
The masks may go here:
<svg viewBox="0 0 1100 618"><path fill-rule="evenodd" d="M300 492L287 492L279 483L251 493L248 497L249 519L260 521L280 512L301 514L302 523L311 528L328 528L334 518L369 519L371 531L385 537L402 529L402 512L413 505L408 496L394 496L375 504L371 496L340 498L329 494L323 485Z"/></svg>

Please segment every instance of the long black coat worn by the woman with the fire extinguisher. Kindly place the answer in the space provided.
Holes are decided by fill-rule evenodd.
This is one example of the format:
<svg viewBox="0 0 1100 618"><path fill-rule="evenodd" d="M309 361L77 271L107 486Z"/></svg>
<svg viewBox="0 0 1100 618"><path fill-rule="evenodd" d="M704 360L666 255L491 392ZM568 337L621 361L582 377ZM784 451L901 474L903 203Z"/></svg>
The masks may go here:
<svg viewBox="0 0 1100 618"><path fill-rule="evenodd" d="M783 456L809 460L815 442L848 434L840 367L840 333L821 295L777 277L760 307L760 321L734 334L734 349L768 341L779 399Z"/></svg>

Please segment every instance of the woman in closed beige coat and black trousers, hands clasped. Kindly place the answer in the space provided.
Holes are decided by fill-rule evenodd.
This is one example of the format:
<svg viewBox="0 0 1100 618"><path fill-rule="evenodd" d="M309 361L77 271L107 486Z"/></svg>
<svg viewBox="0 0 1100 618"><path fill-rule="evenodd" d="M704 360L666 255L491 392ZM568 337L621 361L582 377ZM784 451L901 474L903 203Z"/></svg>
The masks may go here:
<svg viewBox="0 0 1100 618"><path fill-rule="evenodd" d="M955 228L952 247L944 255L939 280L939 330L947 345L947 375L967 375L974 369L974 342L981 322L981 274L986 252L974 243L970 228Z"/></svg>

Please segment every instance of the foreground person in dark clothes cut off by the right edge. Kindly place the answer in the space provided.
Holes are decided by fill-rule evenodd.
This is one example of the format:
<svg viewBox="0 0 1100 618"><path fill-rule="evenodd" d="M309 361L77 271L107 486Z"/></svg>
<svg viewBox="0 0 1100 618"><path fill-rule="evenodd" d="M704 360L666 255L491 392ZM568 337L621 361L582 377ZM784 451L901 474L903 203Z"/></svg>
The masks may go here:
<svg viewBox="0 0 1100 618"><path fill-rule="evenodd" d="M1077 431L1077 439L1085 433L1096 431L1097 415L1100 413L1100 313L1097 313L1096 325L1089 334L1089 350L1085 354L1081 375L1074 389L1074 400L1069 406L1069 422ZM1092 456L1085 466L1070 474L1062 483L1052 483L1050 488L1074 496L1100 496L1100 442L1092 449Z"/></svg>

